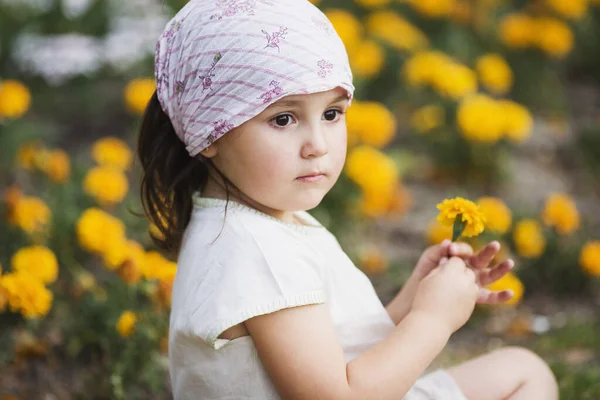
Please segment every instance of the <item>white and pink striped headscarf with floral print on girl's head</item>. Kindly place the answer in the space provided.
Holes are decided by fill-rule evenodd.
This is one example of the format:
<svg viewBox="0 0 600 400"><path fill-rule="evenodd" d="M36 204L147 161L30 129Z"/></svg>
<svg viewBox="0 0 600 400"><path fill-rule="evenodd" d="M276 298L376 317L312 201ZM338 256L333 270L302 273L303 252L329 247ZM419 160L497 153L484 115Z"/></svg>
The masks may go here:
<svg viewBox="0 0 600 400"><path fill-rule="evenodd" d="M284 96L354 93L346 49L308 0L191 0L157 43L155 74L191 156Z"/></svg>

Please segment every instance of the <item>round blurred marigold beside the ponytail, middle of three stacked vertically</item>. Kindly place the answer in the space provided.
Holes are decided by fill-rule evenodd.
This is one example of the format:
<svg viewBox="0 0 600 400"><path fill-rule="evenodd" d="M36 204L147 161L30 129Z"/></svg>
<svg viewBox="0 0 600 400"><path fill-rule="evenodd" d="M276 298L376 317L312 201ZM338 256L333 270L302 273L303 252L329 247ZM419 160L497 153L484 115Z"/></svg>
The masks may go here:
<svg viewBox="0 0 600 400"><path fill-rule="evenodd" d="M85 176L83 190L100 205L114 205L123 201L129 190L129 183L121 170L94 167Z"/></svg>

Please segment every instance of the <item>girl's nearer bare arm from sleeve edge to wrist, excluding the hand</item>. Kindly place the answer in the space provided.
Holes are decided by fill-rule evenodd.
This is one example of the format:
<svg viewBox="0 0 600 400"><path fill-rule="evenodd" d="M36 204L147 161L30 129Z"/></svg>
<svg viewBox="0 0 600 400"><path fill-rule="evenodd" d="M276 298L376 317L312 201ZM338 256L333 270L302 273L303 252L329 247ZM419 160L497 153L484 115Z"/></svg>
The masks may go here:
<svg viewBox="0 0 600 400"><path fill-rule="evenodd" d="M324 304L246 321L283 399L397 400L444 348L451 330L426 312L409 313L385 340L346 363Z"/></svg>

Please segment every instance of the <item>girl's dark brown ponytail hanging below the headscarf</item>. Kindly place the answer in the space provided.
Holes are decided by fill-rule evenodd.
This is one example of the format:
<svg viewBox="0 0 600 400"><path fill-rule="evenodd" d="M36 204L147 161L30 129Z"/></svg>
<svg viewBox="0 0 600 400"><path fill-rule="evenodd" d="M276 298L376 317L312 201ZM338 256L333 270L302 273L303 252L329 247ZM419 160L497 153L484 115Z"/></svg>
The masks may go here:
<svg viewBox="0 0 600 400"><path fill-rule="evenodd" d="M152 236L159 249L177 256L193 208L192 195L202 191L209 177L210 159L191 157L163 111L156 92L142 120L138 157L142 165L141 199L144 213L160 231ZM214 166L213 166L214 167ZM229 180L225 182L229 199Z"/></svg>

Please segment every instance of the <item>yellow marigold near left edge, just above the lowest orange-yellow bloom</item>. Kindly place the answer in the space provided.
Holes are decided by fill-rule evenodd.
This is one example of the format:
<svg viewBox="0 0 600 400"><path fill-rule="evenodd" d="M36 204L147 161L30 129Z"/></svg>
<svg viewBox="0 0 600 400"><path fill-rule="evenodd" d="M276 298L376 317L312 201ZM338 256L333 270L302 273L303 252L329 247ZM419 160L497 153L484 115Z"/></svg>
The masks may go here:
<svg viewBox="0 0 600 400"><path fill-rule="evenodd" d="M58 261L47 247L30 246L17 251L12 259L13 272L28 272L44 284L53 283L58 277Z"/></svg>

